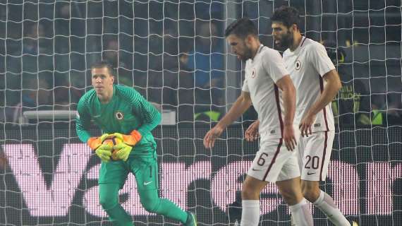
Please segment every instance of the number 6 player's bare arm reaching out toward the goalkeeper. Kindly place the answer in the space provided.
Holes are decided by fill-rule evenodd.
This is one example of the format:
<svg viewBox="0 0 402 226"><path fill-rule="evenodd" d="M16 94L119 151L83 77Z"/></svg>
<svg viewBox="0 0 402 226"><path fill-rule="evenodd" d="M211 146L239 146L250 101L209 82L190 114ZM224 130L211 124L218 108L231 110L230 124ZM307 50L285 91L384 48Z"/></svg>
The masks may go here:
<svg viewBox="0 0 402 226"><path fill-rule="evenodd" d="M205 148L214 147L215 140L221 136L224 129L232 124L233 121L238 119L250 106L252 105L250 93L242 91L240 97L237 98L229 112L219 120L218 124L214 126L204 137Z"/></svg>

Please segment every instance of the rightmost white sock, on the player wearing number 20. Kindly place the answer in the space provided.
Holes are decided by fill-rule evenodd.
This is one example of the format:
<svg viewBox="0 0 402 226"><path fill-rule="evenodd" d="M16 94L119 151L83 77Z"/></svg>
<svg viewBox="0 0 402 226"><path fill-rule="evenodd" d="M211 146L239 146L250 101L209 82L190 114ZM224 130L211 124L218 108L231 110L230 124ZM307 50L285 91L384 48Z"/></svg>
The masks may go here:
<svg viewBox="0 0 402 226"><path fill-rule="evenodd" d="M319 193L317 200L312 203L327 215L327 218L331 220L336 226L349 226L351 223L346 220L345 216L341 213L341 210L336 207L334 200L324 191Z"/></svg>

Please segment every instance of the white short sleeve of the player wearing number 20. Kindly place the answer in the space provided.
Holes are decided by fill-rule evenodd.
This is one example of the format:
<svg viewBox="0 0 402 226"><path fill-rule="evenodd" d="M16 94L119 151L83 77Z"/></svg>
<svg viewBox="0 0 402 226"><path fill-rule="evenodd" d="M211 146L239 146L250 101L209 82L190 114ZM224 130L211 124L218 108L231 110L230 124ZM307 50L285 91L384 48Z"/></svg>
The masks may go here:
<svg viewBox="0 0 402 226"><path fill-rule="evenodd" d="M322 44L313 45L307 51L310 55L312 66L314 66L321 77L335 69L334 64L331 59L329 59L327 51Z"/></svg>

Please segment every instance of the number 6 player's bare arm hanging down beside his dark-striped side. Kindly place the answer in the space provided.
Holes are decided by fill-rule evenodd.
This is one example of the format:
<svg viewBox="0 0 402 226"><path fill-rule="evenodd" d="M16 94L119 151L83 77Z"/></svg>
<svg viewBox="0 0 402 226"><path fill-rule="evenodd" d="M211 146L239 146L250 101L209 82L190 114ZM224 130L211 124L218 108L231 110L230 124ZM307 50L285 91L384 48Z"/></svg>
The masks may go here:
<svg viewBox="0 0 402 226"><path fill-rule="evenodd" d="M294 150L297 142L293 131L293 119L296 112L296 88L293 85L291 77L286 75L276 81L276 85L282 91L282 100L284 102L284 134L286 148Z"/></svg>

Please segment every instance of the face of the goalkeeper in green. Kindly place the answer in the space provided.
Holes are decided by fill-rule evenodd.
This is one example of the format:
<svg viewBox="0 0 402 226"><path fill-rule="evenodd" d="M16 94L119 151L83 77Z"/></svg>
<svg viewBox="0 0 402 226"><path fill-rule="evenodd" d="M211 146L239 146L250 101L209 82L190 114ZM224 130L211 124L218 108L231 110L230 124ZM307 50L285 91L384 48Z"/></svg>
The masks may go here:
<svg viewBox="0 0 402 226"><path fill-rule="evenodd" d="M106 67L94 68L92 73L92 86L95 88L97 94L107 93L113 90L114 76L109 72Z"/></svg>

